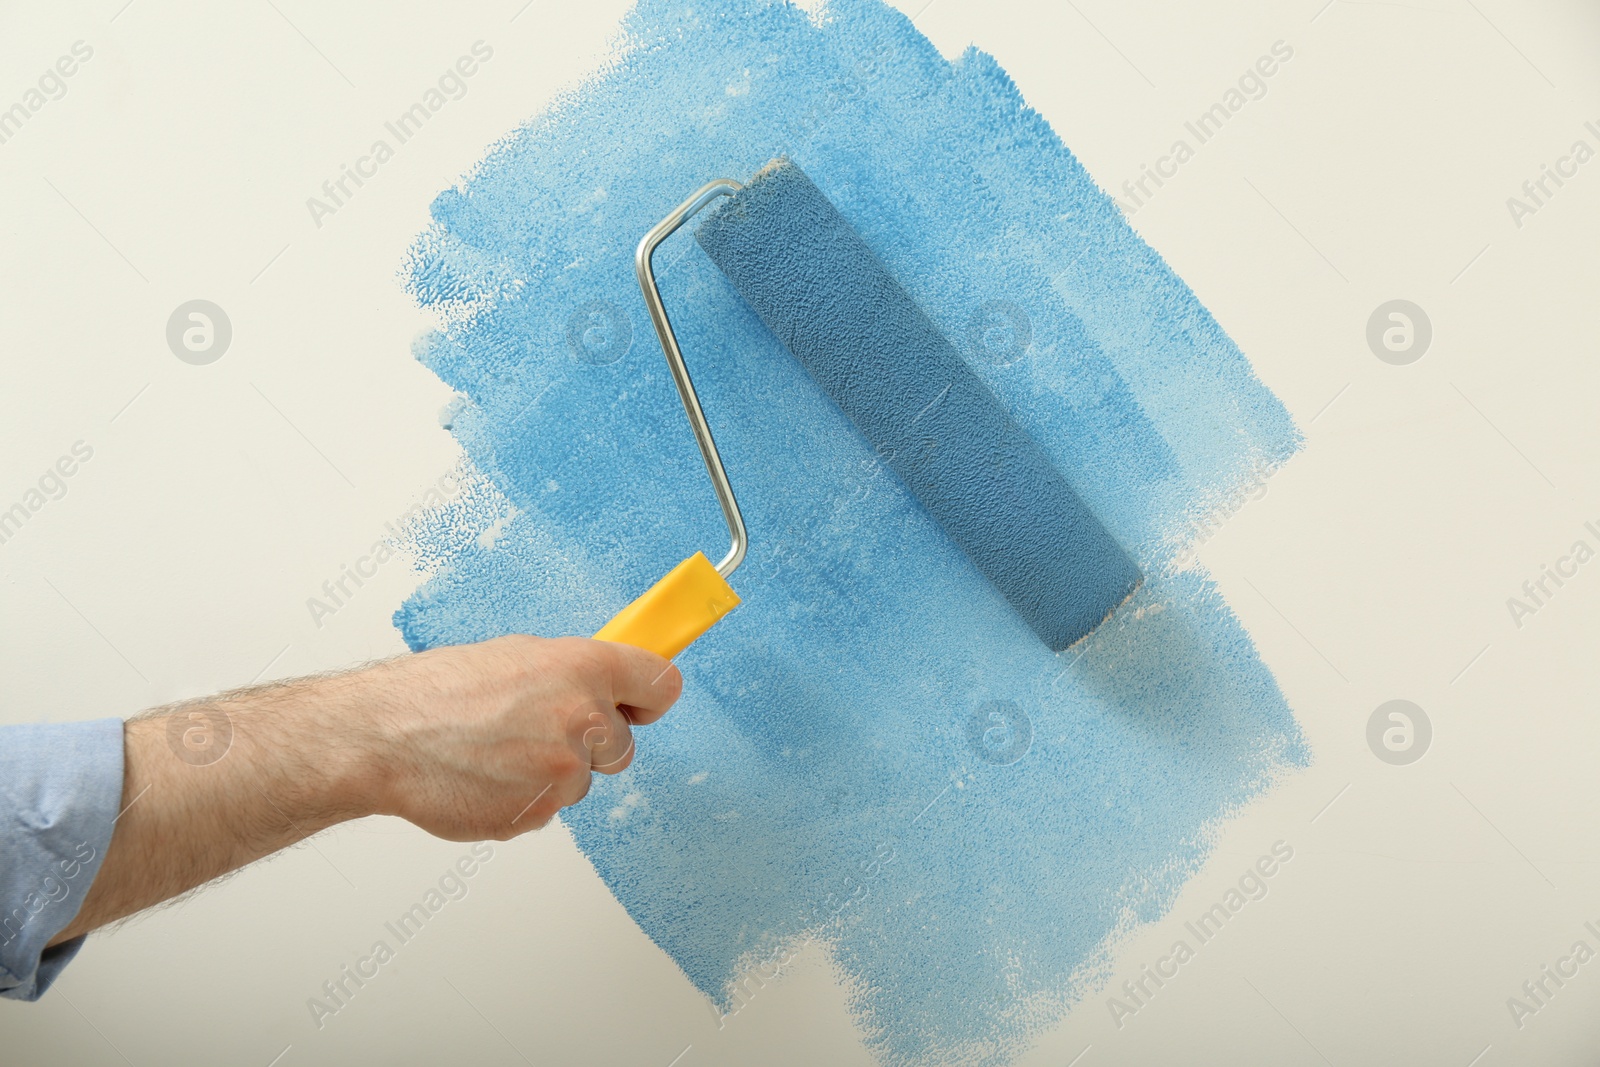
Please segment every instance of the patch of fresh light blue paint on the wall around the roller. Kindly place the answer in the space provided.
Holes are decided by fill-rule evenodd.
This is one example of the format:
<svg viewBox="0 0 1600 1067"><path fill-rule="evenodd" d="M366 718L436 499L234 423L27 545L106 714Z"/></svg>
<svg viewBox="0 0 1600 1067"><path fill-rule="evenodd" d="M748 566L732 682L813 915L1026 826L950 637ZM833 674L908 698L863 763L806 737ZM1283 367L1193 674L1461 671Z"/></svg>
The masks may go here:
<svg viewBox="0 0 1600 1067"><path fill-rule="evenodd" d="M611 64L442 194L410 280L446 325L419 358L502 498L424 534L434 574L397 624L413 648L590 633L722 552L632 253L778 155L1147 577L1051 654L678 234L658 277L750 525L744 606L566 819L725 1011L749 968L818 942L882 1062L1000 1064L1309 755L1213 584L1176 566L1293 422L989 56L947 62L875 0L645 0Z"/></svg>

